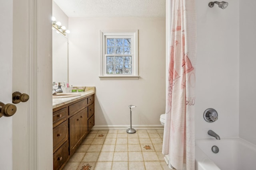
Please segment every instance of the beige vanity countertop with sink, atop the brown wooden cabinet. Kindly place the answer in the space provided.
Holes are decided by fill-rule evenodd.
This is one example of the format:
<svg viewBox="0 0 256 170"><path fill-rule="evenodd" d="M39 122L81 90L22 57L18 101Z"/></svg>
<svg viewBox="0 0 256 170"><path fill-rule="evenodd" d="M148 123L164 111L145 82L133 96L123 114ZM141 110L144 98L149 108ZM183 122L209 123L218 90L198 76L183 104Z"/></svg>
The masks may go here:
<svg viewBox="0 0 256 170"><path fill-rule="evenodd" d="M88 87L88 88L86 87L85 92L78 92L78 93L80 93L81 96L68 97L68 98L52 98L52 109L74 102L76 100L90 96L92 94L95 94L95 87Z"/></svg>

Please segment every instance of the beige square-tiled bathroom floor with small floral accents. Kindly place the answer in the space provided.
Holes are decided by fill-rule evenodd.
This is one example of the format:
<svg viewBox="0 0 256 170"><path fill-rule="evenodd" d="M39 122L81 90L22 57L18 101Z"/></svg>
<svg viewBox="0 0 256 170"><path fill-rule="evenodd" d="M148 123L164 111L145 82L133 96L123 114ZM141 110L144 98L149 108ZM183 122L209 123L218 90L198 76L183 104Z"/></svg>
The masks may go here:
<svg viewBox="0 0 256 170"><path fill-rule="evenodd" d="M163 133L92 130L63 170L170 170L162 155Z"/></svg>

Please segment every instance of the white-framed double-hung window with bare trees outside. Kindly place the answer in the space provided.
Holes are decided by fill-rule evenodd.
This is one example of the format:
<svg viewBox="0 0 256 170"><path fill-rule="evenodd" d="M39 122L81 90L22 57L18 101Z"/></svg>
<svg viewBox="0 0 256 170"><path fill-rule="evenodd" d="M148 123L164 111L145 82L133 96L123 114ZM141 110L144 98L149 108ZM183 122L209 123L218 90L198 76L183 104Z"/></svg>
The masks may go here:
<svg viewBox="0 0 256 170"><path fill-rule="evenodd" d="M138 79L138 30L100 31L100 79Z"/></svg>

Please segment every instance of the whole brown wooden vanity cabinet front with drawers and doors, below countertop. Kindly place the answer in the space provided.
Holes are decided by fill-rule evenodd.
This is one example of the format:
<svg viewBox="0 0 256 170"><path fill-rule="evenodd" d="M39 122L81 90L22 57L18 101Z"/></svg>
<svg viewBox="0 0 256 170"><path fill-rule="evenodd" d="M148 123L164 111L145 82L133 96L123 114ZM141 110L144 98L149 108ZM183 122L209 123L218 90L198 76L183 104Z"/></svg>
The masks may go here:
<svg viewBox="0 0 256 170"><path fill-rule="evenodd" d="M94 126L94 94L53 109L53 169L62 169Z"/></svg>

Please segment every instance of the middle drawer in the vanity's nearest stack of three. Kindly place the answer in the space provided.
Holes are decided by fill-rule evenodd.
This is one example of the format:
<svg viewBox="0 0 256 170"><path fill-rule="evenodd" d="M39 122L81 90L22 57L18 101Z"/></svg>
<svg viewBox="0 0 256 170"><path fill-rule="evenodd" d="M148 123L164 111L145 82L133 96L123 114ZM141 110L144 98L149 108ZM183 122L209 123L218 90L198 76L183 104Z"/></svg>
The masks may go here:
<svg viewBox="0 0 256 170"><path fill-rule="evenodd" d="M53 129L53 152L68 140L68 121L64 121Z"/></svg>

